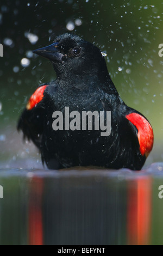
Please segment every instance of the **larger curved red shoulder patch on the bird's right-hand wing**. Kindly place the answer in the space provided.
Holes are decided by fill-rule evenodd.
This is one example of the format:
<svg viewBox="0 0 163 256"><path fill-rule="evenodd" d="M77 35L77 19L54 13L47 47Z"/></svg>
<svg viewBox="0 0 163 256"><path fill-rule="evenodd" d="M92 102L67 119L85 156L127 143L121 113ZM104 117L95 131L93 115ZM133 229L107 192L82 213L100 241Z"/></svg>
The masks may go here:
<svg viewBox="0 0 163 256"><path fill-rule="evenodd" d="M140 153L142 155L149 155L153 148L153 129L151 124L138 113L131 113L126 115L126 118L136 126L138 132L137 137L140 145Z"/></svg>

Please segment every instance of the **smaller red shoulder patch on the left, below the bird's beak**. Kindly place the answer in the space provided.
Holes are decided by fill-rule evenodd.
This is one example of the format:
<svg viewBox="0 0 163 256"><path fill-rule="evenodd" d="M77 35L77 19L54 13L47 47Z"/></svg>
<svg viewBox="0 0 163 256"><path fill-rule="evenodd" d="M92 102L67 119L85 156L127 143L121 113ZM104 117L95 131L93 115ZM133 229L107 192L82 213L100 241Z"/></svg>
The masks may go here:
<svg viewBox="0 0 163 256"><path fill-rule="evenodd" d="M30 97L27 103L26 108L28 110L31 110L32 108L34 108L37 105L37 103L39 103L42 100L43 92L45 91L46 87L47 86L41 86L35 90L34 94Z"/></svg>

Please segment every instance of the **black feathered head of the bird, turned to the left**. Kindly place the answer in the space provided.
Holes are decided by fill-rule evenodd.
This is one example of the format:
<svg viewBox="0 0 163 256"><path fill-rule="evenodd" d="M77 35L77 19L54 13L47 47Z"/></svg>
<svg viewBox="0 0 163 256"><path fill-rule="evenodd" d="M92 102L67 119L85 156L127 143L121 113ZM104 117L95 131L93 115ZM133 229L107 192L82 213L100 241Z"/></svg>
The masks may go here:
<svg viewBox="0 0 163 256"><path fill-rule="evenodd" d="M51 60L57 77L108 76L101 50L77 35L63 34L53 44L33 51Z"/></svg>

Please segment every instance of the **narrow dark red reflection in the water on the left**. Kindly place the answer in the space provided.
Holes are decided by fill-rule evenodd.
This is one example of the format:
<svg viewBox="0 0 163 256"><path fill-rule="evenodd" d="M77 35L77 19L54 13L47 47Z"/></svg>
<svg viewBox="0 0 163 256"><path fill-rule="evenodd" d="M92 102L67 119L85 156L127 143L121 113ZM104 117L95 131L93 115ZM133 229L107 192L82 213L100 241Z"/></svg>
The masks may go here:
<svg viewBox="0 0 163 256"><path fill-rule="evenodd" d="M42 193L43 179L33 177L29 190L29 245L43 245Z"/></svg>

